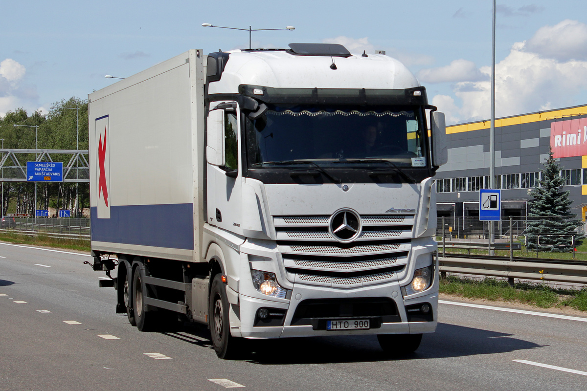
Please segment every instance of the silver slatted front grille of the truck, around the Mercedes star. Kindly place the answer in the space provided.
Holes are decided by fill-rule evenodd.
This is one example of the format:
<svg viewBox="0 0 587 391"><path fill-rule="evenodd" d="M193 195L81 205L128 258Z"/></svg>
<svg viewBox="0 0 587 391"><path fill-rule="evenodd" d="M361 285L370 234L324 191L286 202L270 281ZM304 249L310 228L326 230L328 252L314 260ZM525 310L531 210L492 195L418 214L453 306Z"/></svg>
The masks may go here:
<svg viewBox="0 0 587 391"><path fill-rule="evenodd" d="M397 278L407 264L415 216L361 216L352 243L329 233L330 216L274 216L279 252L294 283L353 288Z"/></svg>

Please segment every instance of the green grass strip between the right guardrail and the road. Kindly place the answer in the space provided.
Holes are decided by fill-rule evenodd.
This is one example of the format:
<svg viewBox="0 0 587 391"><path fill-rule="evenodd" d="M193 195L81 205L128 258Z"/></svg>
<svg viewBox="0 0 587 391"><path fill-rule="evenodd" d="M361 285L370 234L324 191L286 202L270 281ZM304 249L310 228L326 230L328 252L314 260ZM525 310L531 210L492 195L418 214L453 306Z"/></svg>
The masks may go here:
<svg viewBox="0 0 587 391"><path fill-rule="evenodd" d="M440 293L471 299L518 302L539 308L570 307L587 311L587 290L554 289L541 283L518 283L512 287L508 281L496 278L475 280L448 276L440 279Z"/></svg>

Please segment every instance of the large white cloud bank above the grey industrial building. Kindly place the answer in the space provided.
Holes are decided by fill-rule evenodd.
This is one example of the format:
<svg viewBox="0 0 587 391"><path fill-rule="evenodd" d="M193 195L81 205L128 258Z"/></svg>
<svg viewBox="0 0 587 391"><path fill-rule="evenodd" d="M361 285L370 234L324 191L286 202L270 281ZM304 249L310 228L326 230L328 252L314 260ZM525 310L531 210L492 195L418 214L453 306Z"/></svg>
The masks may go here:
<svg viewBox="0 0 587 391"><path fill-rule="evenodd" d="M571 53L582 53L581 59ZM476 70L471 62L455 60L421 70L418 76L424 84L454 83L453 97L432 98L434 106L447 113L447 123L490 118L491 67ZM509 55L495 64L495 116L573 106L585 85L587 26L574 21L545 26L527 42L514 43Z"/></svg>

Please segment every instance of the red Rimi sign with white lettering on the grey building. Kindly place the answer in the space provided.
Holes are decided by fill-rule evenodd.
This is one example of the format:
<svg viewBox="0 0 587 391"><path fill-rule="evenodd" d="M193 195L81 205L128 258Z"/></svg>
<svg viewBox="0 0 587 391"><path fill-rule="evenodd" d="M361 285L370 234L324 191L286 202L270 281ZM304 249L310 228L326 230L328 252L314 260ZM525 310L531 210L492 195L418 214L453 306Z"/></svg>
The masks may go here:
<svg viewBox="0 0 587 391"><path fill-rule="evenodd" d="M554 158L587 155L587 118L553 122L551 148Z"/></svg>

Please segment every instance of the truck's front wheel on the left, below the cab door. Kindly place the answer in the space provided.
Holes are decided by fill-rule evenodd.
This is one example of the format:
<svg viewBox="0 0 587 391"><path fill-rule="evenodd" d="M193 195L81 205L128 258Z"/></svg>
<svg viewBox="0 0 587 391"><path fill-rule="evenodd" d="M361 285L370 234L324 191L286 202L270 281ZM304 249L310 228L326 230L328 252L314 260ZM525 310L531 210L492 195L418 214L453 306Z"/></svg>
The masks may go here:
<svg viewBox="0 0 587 391"><path fill-rule="evenodd" d="M235 359L241 355L241 339L230 335L230 322L228 310L230 303L226 295L225 284L222 283L220 274L212 280L210 299L208 301L208 326L214 351L219 358Z"/></svg>

